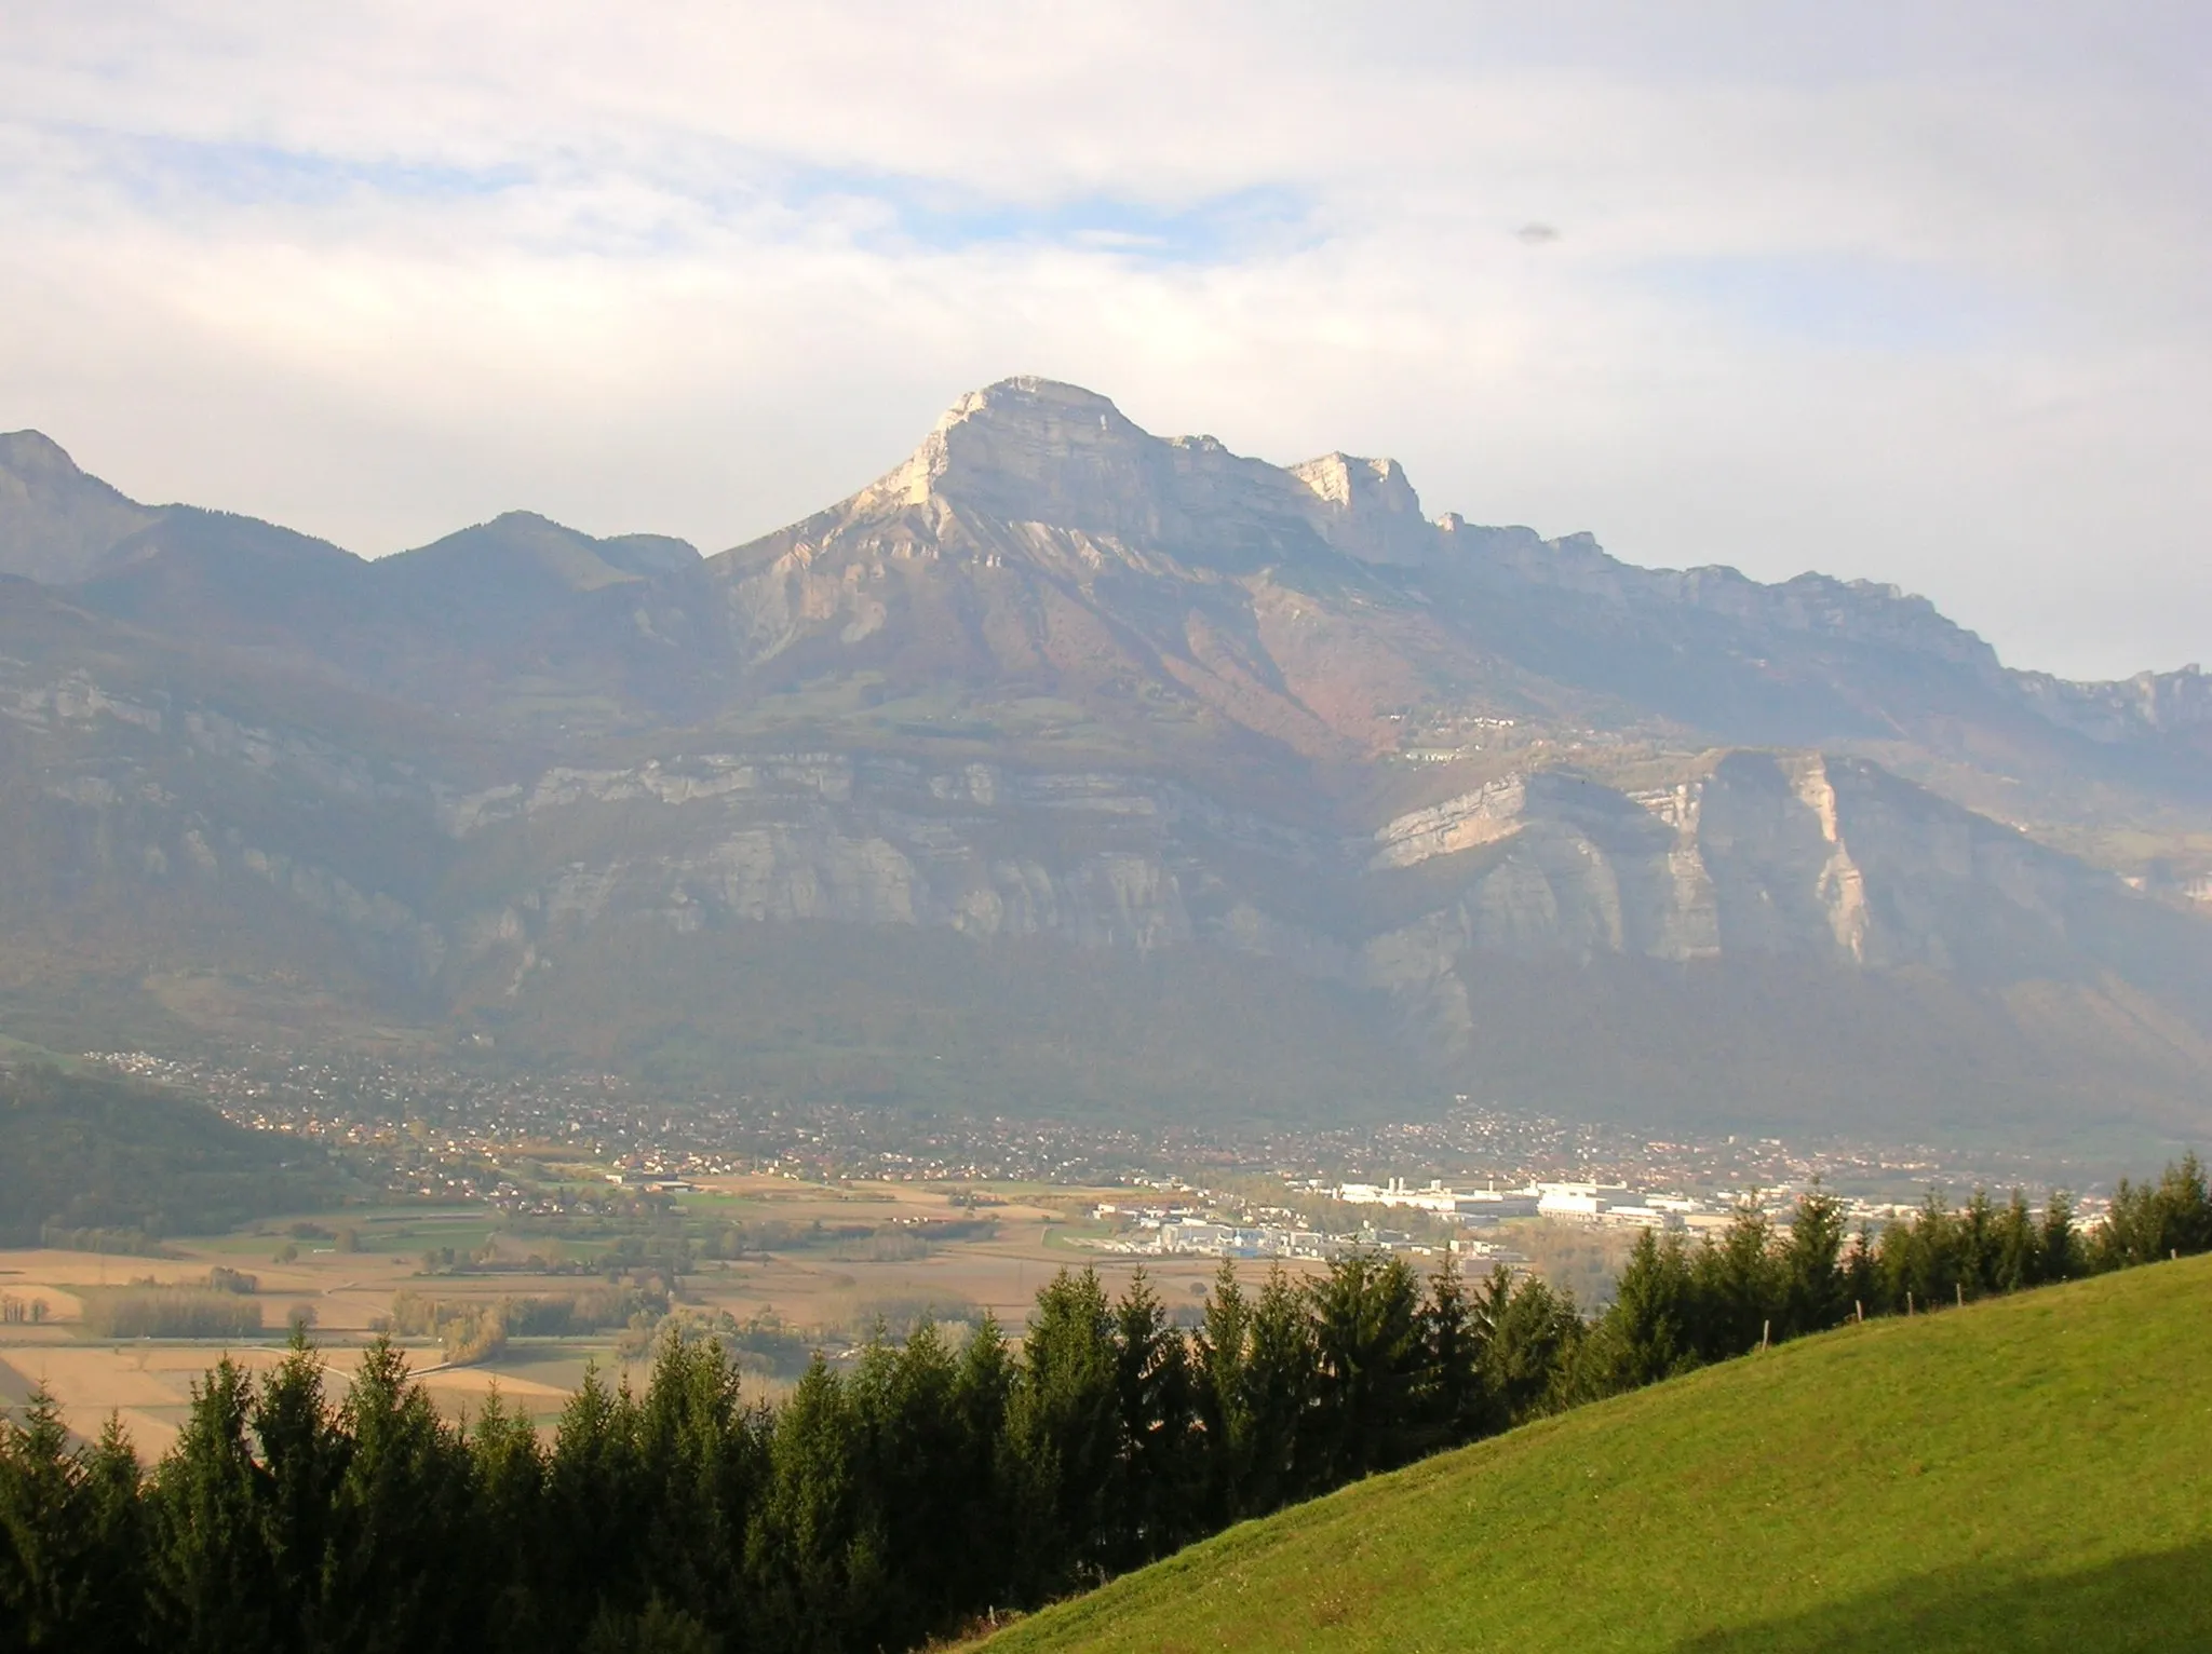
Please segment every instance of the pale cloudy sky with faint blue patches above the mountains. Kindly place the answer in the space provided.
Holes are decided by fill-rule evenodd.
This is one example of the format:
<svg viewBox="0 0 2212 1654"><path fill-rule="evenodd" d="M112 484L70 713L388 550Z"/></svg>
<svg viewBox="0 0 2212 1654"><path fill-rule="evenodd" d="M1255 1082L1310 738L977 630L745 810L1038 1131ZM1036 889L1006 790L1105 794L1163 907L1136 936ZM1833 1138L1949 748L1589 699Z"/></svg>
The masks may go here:
<svg viewBox="0 0 2212 1654"><path fill-rule="evenodd" d="M0 0L0 429L717 551L1048 374L2212 661L2212 7Z"/></svg>

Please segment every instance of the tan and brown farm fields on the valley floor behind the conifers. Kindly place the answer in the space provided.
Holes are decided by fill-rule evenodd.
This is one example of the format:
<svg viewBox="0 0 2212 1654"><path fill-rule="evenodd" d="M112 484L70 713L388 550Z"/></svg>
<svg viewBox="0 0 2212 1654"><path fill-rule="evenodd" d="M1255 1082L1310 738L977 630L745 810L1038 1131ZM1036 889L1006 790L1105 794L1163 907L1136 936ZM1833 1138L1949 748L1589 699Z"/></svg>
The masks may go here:
<svg viewBox="0 0 2212 1654"><path fill-rule="evenodd" d="M1124 1192L1126 1194L1126 1192ZM1097 1265L1108 1287L1137 1269L1128 1256L1097 1254L1071 1245L1095 1225L1079 1221L1106 1192L1037 1185L975 1185L956 1192L909 1183L812 1185L790 1179L719 1179L675 1196L675 1210L690 1234L723 1225L781 1225L794 1245L741 1258L701 1258L681 1278L681 1313L728 1311L748 1322L774 1318L796 1338L821 1342L832 1353L880 1313L902 1331L925 1309L975 1313L989 1309L1018 1331L1037 1289L1062 1267ZM927 1245L878 1245L852 1240L816 1243L814 1225L827 1232L874 1229L900 1236L909 1225L991 1218L995 1234L931 1240ZM1075 1218L1075 1221L1071 1221ZM352 1252L338 1249L338 1234ZM226 1351L261 1369L281 1353L290 1318L312 1311L312 1338L323 1349L334 1382L358 1360L374 1327L392 1316L398 1294L436 1296L440 1302L564 1296L599 1285L597 1274L549 1274L504 1267L498 1274L425 1274L425 1252L453 1249L458 1256L484 1247L509 1265L540 1254L571 1265L588 1263L593 1240L560 1240L502 1223L484 1207L369 1207L272 1218L226 1236L173 1240L173 1258L142 1258L91 1252L18 1249L0 1252L0 1294L42 1302L38 1325L0 1327L0 1406L15 1406L40 1382L62 1402L69 1426L91 1435L111 1411L119 1413L144 1457L155 1457L175 1440L192 1382ZM279 1254L292 1254L279 1260ZM902 1256L902 1254L916 1256ZM880 1256L878 1256L880 1254ZM1155 1289L1170 1307L1197 1307L1214 1276L1206 1258L1159 1258L1150 1265ZM131 1283L186 1287L208 1271L237 1269L257 1283L250 1302L261 1309L259 1340L95 1340L86 1336L86 1300ZM403 1338L409 1360L436 1402L451 1415L482 1404L498 1382L509 1404L520 1404L540 1422L551 1422L591 1362L613 1375L630 1373L619 1331L571 1338L515 1338L487 1362L445 1367L429 1338ZM633 1340L635 1342L635 1340ZM779 1393L787 1375L757 1373L757 1393Z"/></svg>

